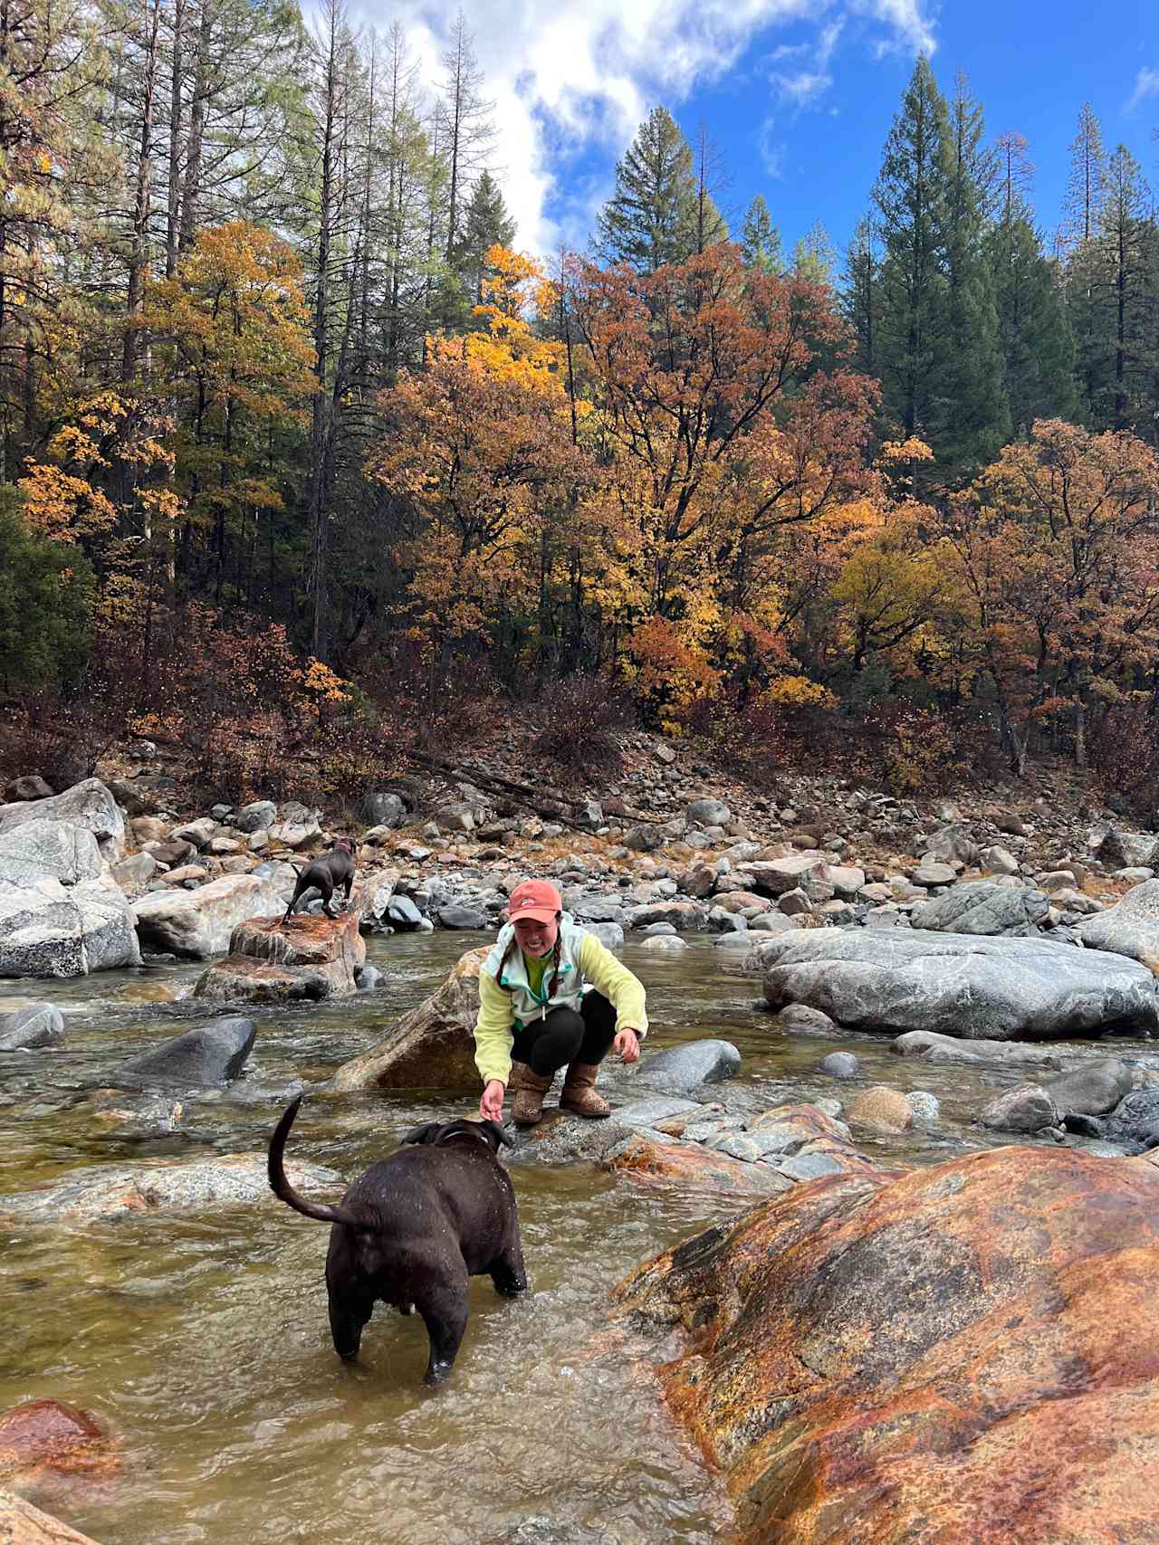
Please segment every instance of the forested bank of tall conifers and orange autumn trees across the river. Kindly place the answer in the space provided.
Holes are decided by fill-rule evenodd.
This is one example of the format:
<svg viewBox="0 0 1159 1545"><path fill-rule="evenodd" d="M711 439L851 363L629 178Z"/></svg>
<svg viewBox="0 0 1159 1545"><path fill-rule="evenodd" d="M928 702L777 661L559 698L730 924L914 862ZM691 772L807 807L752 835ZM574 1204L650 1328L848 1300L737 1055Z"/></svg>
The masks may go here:
<svg viewBox="0 0 1159 1545"><path fill-rule="evenodd" d="M587 252L499 165L462 19L423 80L337 0L0 8L9 772L326 794L535 705L1159 802L1159 218L1089 107L1046 226L918 60L844 256L661 107Z"/></svg>

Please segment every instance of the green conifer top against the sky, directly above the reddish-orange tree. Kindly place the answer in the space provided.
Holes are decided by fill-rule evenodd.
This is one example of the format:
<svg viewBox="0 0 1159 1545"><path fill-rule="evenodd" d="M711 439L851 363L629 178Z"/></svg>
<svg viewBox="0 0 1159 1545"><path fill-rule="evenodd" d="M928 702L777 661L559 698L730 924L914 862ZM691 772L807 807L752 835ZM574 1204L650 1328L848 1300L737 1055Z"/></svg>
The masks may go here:
<svg viewBox="0 0 1159 1545"><path fill-rule="evenodd" d="M726 238L711 195L702 195L688 141L666 108L652 108L615 168L615 192L596 221L600 255L655 273Z"/></svg>

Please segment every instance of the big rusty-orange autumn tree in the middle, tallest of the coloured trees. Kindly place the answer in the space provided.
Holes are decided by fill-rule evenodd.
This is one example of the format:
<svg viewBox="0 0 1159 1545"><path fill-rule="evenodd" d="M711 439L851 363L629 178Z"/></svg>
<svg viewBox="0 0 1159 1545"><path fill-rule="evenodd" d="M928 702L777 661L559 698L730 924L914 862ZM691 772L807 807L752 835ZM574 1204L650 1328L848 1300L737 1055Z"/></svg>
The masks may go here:
<svg viewBox="0 0 1159 1545"><path fill-rule="evenodd" d="M868 383L816 369L844 335L828 292L720 244L654 275L576 263L572 294L615 468L617 626L649 655L774 650L777 533L856 484L867 433Z"/></svg>

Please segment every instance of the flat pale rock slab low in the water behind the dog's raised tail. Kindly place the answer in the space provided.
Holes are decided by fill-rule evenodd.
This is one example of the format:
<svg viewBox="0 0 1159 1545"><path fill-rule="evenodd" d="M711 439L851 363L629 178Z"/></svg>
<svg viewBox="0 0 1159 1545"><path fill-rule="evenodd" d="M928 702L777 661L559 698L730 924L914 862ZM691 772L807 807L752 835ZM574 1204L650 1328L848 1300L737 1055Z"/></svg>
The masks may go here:
<svg viewBox="0 0 1159 1545"><path fill-rule="evenodd" d="M213 1159L158 1159L150 1165L96 1165L73 1170L49 1187L0 1196L0 1219L12 1224L94 1222L142 1213L221 1211L227 1207L281 1207L269 1188L266 1154L221 1154ZM321 1165L287 1159L295 1190L317 1196L343 1185Z"/></svg>

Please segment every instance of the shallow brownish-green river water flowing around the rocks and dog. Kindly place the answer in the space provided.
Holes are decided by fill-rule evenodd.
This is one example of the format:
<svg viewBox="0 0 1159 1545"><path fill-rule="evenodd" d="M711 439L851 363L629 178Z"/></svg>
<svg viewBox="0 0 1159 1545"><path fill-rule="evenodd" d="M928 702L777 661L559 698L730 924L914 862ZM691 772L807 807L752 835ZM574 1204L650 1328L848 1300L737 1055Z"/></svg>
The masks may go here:
<svg viewBox="0 0 1159 1545"><path fill-rule="evenodd" d="M374 941L380 989L257 1010L243 1078L187 1102L170 1136L110 1125L91 1091L117 1063L198 1023L189 1006L158 998L202 967L0 983L0 1015L49 998L68 1023L63 1048L0 1060L0 1196L82 1165L263 1151L297 1080L325 1082L478 942ZM777 1035L753 1007L759 980L706 941L677 958L629 946L623 958L649 989L647 1048L726 1037L743 1058L728 1097L751 1109L864 1083L932 1091L936 1131L861 1145L885 1159L929 1163L991 1146L969 1122L995 1088L1018 1082L927 1068L890 1054L887 1038ZM816 1071L842 1048L862 1061L855 1086ZM1117 1054L1144 1049L1114 1043ZM623 1098L630 1075L612 1085ZM352 1179L414 1122L470 1109L422 1092L308 1098L289 1154ZM473 1279L467 1338L436 1392L420 1383L417 1316L379 1307L360 1361L335 1358L329 1230L287 1208L0 1227L0 1411L40 1397L82 1406L114 1434L121 1460L111 1480L25 1494L100 1545L501 1545L527 1520L542 1533L522 1539L559 1545L726 1539L719 1482L658 1401L651 1363L609 1333L606 1304L634 1265L739 1204L612 1180L590 1165L516 1162L512 1177L532 1290L508 1302Z"/></svg>

